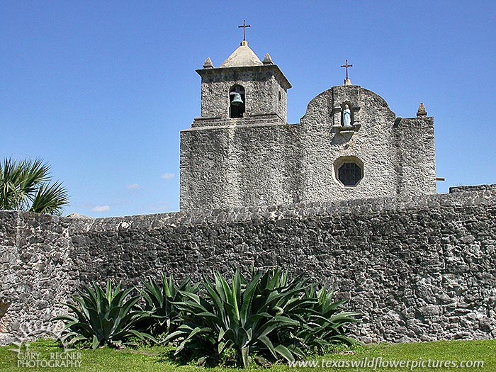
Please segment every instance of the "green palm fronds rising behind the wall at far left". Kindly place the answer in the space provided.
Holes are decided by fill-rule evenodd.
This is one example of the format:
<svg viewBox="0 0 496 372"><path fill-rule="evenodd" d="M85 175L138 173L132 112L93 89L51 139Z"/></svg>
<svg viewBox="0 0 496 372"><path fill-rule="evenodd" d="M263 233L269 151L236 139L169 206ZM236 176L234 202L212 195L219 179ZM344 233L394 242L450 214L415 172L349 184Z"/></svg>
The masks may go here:
<svg viewBox="0 0 496 372"><path fill-rule="evenodd" d="M0 163L0 210L62 214L69 203L60 182L50 184L50 167L41 160L4 159Z"/></svg>

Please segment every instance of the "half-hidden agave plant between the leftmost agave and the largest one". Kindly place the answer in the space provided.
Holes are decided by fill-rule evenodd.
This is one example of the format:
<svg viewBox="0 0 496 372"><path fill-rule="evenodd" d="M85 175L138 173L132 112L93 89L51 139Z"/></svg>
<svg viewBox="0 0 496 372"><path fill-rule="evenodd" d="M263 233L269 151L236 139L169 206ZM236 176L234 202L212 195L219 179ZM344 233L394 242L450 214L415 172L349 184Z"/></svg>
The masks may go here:
<svg viewBox="0 0 496 372"><path fill-rule="evenodd" d="M178 327L177 322L179 322L181 310L176 303L186 299L184 293L197 293L198 285L193 285L191 278L186 278L179 286L176 286L173 276L162 274L161 281L156 282L150 279L138 291L144 299L144 305L141 308L150 315L140 321L138 327L158 336L169 334Z"/></svg>

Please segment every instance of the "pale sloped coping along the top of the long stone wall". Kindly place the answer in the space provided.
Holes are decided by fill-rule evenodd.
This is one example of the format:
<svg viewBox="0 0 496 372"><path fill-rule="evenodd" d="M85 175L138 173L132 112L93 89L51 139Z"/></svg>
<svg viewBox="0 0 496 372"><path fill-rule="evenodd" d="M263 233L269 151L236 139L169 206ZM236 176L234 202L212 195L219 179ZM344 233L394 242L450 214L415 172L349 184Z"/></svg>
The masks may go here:
<svg viewBox="0 0 496 372"><path fill-rule="evenodd" d="M208 225L225 224L251 220L308 219L315 217L332 217L342 214L381 213L385 210L424 210L443 207L463 208L469 205L496 204L496 184L478 186L457 186L450 188L450 193L437 193L427 196L410 196L401 198L371 198L353 201L328 201L291 203L284 205L268 205L257 207L240 207L201 210L193 209L187 212L160 213L154 215L130 215L110 218L72 218L49 215L38 215L42 220L52 219L52 222L62 222L69 228L78 231L128 229L147 230L177 227L178 225ZM0 218L6 215L19 214L37 216L36 213L23 211L0 211Z"/></svg>

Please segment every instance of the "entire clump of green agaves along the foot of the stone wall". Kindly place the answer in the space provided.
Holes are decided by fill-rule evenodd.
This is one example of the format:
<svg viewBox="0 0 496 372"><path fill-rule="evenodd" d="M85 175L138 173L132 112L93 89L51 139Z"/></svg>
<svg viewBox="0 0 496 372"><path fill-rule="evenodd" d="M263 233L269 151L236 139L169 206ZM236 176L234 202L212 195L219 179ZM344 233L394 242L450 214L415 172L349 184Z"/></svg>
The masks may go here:
<svg viewBox="0 0 496 372"><path fill-rule="evenodd" d="M344 301L333 302L331 292L302 276L289 280L288 271L275 269L252 271L247 280L237 270L229 282L216 272L200 285L201 292L189 278L176 286L172 276L162 276L135 296L120 286L112 291L109 281L106 290L83 286L74 297L77 305L67 305L75 315L57 318L66 322L63 341L96 349L165 337L177 345L176 357L245 368L252 359L262 365L294 361L331 344L355 342L346 327L359 314L342 312Z"/></svg>

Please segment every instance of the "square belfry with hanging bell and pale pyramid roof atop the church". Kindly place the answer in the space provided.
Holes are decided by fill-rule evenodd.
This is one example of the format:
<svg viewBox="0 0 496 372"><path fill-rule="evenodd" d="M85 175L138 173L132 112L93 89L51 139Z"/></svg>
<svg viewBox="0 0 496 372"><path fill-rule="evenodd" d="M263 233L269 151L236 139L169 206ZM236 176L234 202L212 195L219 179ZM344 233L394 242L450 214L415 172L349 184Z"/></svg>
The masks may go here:
<svg viewBox="0 0 496 372"><path fill-rule="evenodd" d="M270 55L261 61L247 40L218 68L207 58L196 72L201 76L201 117L194 120L193 128L287 123L291 84Z"/></svg>

